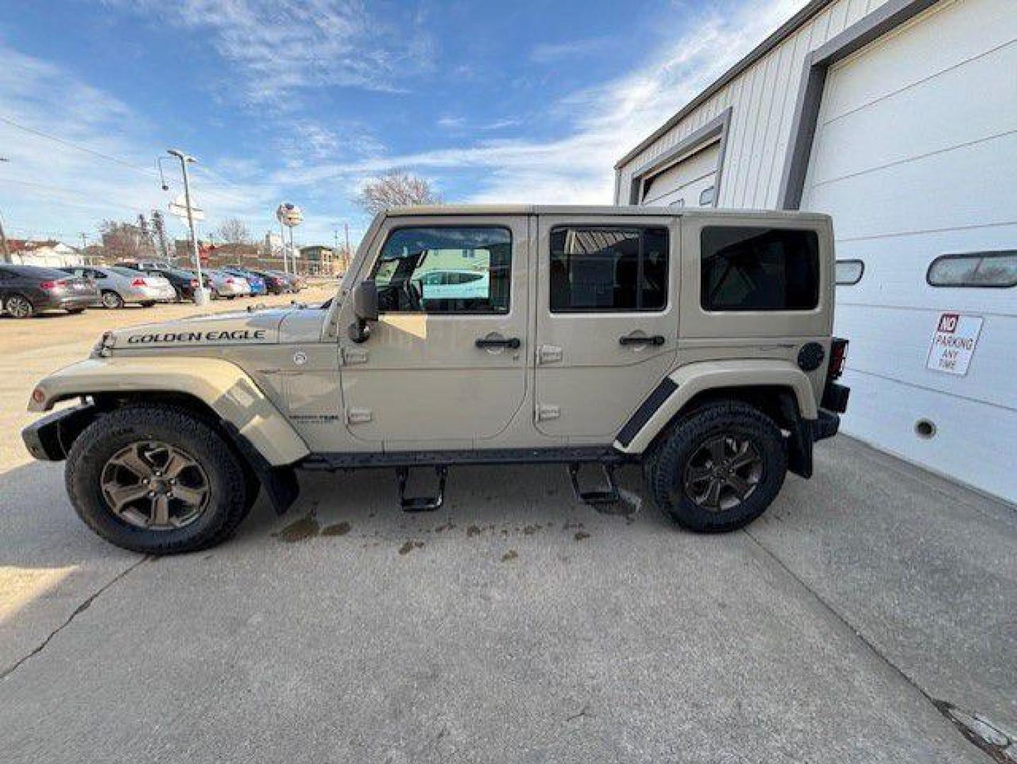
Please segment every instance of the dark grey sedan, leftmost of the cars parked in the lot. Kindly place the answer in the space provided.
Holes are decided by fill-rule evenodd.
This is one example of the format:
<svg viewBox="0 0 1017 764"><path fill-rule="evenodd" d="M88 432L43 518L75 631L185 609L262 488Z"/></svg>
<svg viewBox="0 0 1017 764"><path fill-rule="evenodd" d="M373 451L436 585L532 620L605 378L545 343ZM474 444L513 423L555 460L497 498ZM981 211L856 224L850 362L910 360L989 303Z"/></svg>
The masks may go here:
<svg viewBox="0 0 1017 764"><path fill-rule="evenodd" d="M45 310L80 313L99 301L99 290L86 278L56 268L0 264L0 312L31 318Z"/></svg>

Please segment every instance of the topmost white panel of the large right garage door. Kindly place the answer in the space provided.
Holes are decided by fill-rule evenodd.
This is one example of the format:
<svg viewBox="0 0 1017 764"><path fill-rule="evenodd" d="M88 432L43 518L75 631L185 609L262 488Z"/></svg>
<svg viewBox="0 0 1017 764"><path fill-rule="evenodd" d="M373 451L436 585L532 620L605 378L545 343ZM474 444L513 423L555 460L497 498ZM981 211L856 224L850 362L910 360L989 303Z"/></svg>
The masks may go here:
<svg viewBox="0 0 1017 764"><path fill-rule="evenodd" d="M944 3L831 67L821 121L859 109L1017 38L1013 0ZM933 41L935 44L930 45ZM998 72L997 77L1005 72Z"/></svg>

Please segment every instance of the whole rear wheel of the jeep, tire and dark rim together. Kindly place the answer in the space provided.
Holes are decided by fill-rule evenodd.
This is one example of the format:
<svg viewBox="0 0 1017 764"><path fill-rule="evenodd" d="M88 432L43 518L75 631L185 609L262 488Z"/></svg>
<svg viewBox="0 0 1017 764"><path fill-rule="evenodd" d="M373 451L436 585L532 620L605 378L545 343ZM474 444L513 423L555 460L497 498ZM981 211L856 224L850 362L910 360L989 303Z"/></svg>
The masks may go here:
<svg viewBox="0 0 1017 764"><path fill-rule="evenodd" d="M711 403L678 422L645 470L657 506L690 530L734 530L773 502L787 473L780 429L758 408Z"/></svg>

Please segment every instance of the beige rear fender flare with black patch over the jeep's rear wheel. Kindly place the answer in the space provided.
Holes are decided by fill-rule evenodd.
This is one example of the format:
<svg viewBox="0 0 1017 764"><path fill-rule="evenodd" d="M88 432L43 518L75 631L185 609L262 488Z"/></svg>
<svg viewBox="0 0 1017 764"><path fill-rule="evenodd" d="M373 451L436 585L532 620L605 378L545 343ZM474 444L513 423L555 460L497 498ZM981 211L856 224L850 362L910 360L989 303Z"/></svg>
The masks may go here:
<svg viewBox="0 0 1017 764"><path fill-rule="evenodd" d="M682 366L665 377L618 433L614 448L643 453L653 439L696 395L725 387L785 387L794 395L802 419L819 417L809 377L788 361L704 361Z"/></svg>

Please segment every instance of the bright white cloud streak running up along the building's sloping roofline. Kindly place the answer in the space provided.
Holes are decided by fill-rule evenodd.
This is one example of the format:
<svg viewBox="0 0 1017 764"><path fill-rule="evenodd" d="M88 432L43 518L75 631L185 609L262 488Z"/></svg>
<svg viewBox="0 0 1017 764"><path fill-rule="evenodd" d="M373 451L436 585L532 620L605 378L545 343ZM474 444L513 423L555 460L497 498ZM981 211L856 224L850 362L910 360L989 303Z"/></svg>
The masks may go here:
<svg viewBox="0 0 1017 764"><path fill-rule="evenodd" d="M660 50L652 63L572 93L552 107L555 116L572 124L566 137L478 141L352 165L319 164L287 180L315 184L347 178L355 183L392 168L409 168L441 180L458 171L483 170L486 175L479 187L458 201L610 203L614 163L803 4L803 0L746 0L733 13L685 16L684 33ZM450 126L454 119L446 118Z"/></svg>

